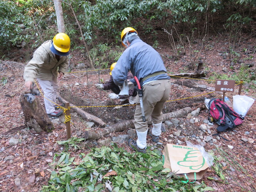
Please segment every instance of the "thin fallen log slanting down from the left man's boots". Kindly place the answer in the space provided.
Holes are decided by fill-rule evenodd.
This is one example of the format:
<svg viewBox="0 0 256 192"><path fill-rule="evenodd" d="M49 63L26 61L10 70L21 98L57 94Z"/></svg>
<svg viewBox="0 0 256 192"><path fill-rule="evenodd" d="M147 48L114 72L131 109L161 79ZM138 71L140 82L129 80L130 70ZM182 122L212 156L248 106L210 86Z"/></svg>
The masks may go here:
<svg viewBox="0 0 256 192"><path fill-rule="evenodd" d="M57 94L57 99L62 102L63 104L68 103L65 99L63 99L59 94ZM75 112L77 112L79 115L81 115L84 119L87 119L89 121L94 122L97 125L100 125L100 127L105 127L106 124L104 121L102 121L102 119L100 119L99 117L96 117L92 114L89 114L87 112L85 112L84 110L80 109L79 107L76 107L75 105L69 103L70 107L72 107L71 109L74 110Z"/></svg>

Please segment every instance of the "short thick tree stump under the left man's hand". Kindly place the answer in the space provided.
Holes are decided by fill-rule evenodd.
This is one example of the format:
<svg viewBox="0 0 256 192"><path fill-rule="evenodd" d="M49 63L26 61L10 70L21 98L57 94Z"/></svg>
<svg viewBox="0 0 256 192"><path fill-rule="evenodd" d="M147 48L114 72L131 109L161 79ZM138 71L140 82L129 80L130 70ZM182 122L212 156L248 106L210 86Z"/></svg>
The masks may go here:
<svg viewBox="0 0 256 192"><path fill-rule="evenodd" d="M54 125L37 98L30 104L22 94L20 95L20 105L27 127L34 129L36 132L50 132L54 129Z"/></svg>

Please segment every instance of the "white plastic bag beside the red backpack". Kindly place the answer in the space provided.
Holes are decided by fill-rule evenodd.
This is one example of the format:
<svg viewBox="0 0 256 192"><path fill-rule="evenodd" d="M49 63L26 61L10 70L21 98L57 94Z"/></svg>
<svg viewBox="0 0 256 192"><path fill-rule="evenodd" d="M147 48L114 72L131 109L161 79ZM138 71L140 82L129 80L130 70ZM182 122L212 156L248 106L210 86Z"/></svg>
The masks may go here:
<svg viewBox="0 0 256 192"><path fill-rule="evenodd" d="M245 116L253 105L254 99L245 95L233 96L233 109L236 113Z"/></svg>

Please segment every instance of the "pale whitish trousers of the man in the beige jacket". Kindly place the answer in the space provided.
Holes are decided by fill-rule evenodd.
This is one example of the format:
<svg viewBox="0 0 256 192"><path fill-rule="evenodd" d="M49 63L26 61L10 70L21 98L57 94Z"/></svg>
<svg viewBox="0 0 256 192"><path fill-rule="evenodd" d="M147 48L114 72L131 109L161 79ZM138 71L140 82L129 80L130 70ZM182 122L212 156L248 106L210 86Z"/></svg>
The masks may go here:
<svg viewBox="0 0 256 192"><path fill-rule="evenodd" d="M42 80L40 78L37 78L37 80L42 90L44 91L44 97L56 103L57 88L59 87L57 78L53 76L52 81ZM45 104L46 113L50 114L55 111L55 108L54 108L55 104L45 98L44 98L44 104Z"/></svg>

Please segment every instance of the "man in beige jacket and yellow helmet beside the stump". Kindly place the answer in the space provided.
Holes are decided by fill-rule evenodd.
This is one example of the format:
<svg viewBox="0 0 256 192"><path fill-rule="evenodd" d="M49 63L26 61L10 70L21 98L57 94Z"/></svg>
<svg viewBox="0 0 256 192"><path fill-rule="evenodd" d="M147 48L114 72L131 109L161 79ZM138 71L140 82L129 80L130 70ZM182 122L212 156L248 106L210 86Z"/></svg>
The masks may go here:
<svg viewBox="0 0 256 192"><path fill-rule="evenodd" d="M33 58L24 68L23 78L25 87L33 88L33 82L37 78L44 91L45 109L49 117L59 117L63 111L55 105L57 97L58 80L68 68L68 55L70 49L70 38L65 33L58 33L53 40L44 42L33 53ZM58 77L59 72L59 77ZM52 102L54 103L52 103ZM61 105L64 106L64 105Z"/></svg>

